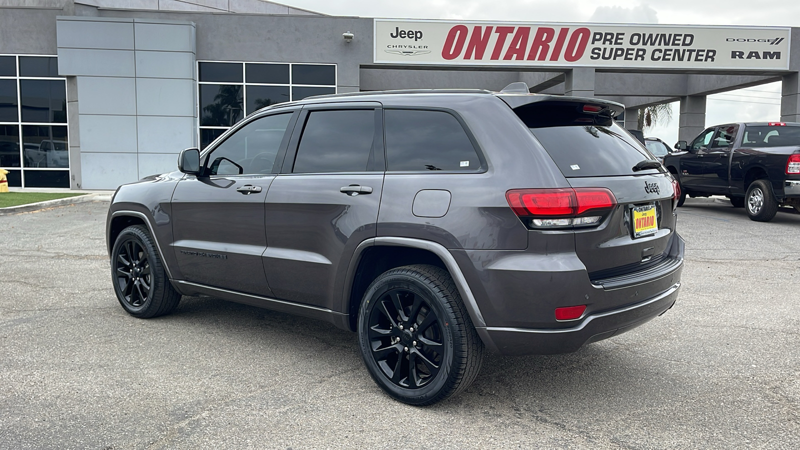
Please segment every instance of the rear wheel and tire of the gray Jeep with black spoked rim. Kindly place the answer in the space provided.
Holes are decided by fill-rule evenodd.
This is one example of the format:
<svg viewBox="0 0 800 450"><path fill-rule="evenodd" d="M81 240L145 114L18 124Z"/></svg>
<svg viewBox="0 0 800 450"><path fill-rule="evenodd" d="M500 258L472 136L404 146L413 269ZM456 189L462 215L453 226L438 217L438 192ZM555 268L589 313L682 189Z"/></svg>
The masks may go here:
<svg viewBox="0 0 800 450"><path fill-rule="evenodd" d="M375 383L416 406L468 388L484 353L450 274L426 264L386 271L370 284L358 309L358 346Z"/></svg>

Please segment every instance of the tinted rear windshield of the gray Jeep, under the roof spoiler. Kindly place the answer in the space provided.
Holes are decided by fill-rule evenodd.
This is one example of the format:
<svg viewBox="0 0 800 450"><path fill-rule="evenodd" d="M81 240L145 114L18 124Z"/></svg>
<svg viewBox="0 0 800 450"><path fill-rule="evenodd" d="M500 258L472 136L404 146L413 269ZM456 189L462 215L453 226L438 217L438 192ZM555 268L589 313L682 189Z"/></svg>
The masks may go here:
<svg viewBox="0 0 800 450"><path fill-rule="evenodd" d="M536 102L514 110L567 177L657 173L634 171L653 157L609 116L582 111L582 102Z"/></svg>

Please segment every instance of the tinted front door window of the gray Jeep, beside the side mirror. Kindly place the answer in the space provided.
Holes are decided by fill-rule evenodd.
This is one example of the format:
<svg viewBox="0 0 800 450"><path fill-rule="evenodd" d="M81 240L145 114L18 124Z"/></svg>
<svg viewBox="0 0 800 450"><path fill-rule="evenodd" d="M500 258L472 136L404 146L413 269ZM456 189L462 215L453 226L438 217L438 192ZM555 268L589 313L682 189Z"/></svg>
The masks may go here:
<svg viewBox="0 0 800 450"><path fill-rule="evenodd" d="M270 115L239 128L211 152L209 175L271 173L291 117L291 113Z"/></svg>

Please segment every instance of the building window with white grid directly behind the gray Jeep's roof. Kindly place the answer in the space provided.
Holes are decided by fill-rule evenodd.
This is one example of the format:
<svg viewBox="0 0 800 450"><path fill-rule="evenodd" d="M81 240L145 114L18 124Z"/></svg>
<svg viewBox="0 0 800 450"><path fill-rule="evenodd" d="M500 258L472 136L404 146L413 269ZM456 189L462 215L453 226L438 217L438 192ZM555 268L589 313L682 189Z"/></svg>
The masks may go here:
<svg viewBox="0 0 800 450"><path fill-rule="evenodd" d="M198 61L200 148L263 107L324 94L336 94L335 64Z"/></svg>

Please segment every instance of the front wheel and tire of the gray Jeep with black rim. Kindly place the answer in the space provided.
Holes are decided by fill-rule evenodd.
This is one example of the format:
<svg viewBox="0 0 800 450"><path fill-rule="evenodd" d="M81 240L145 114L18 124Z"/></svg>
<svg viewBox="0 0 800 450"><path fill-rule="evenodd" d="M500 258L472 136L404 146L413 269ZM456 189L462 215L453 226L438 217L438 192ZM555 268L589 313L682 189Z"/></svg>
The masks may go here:
<svg viewBox="0 0 800 450"><path fill-rule="evenodd" d="M122 230L111 250L111 280L119 304L142 319L170 314L181 295L172 287L150 231L143 225Z"/></svg>

